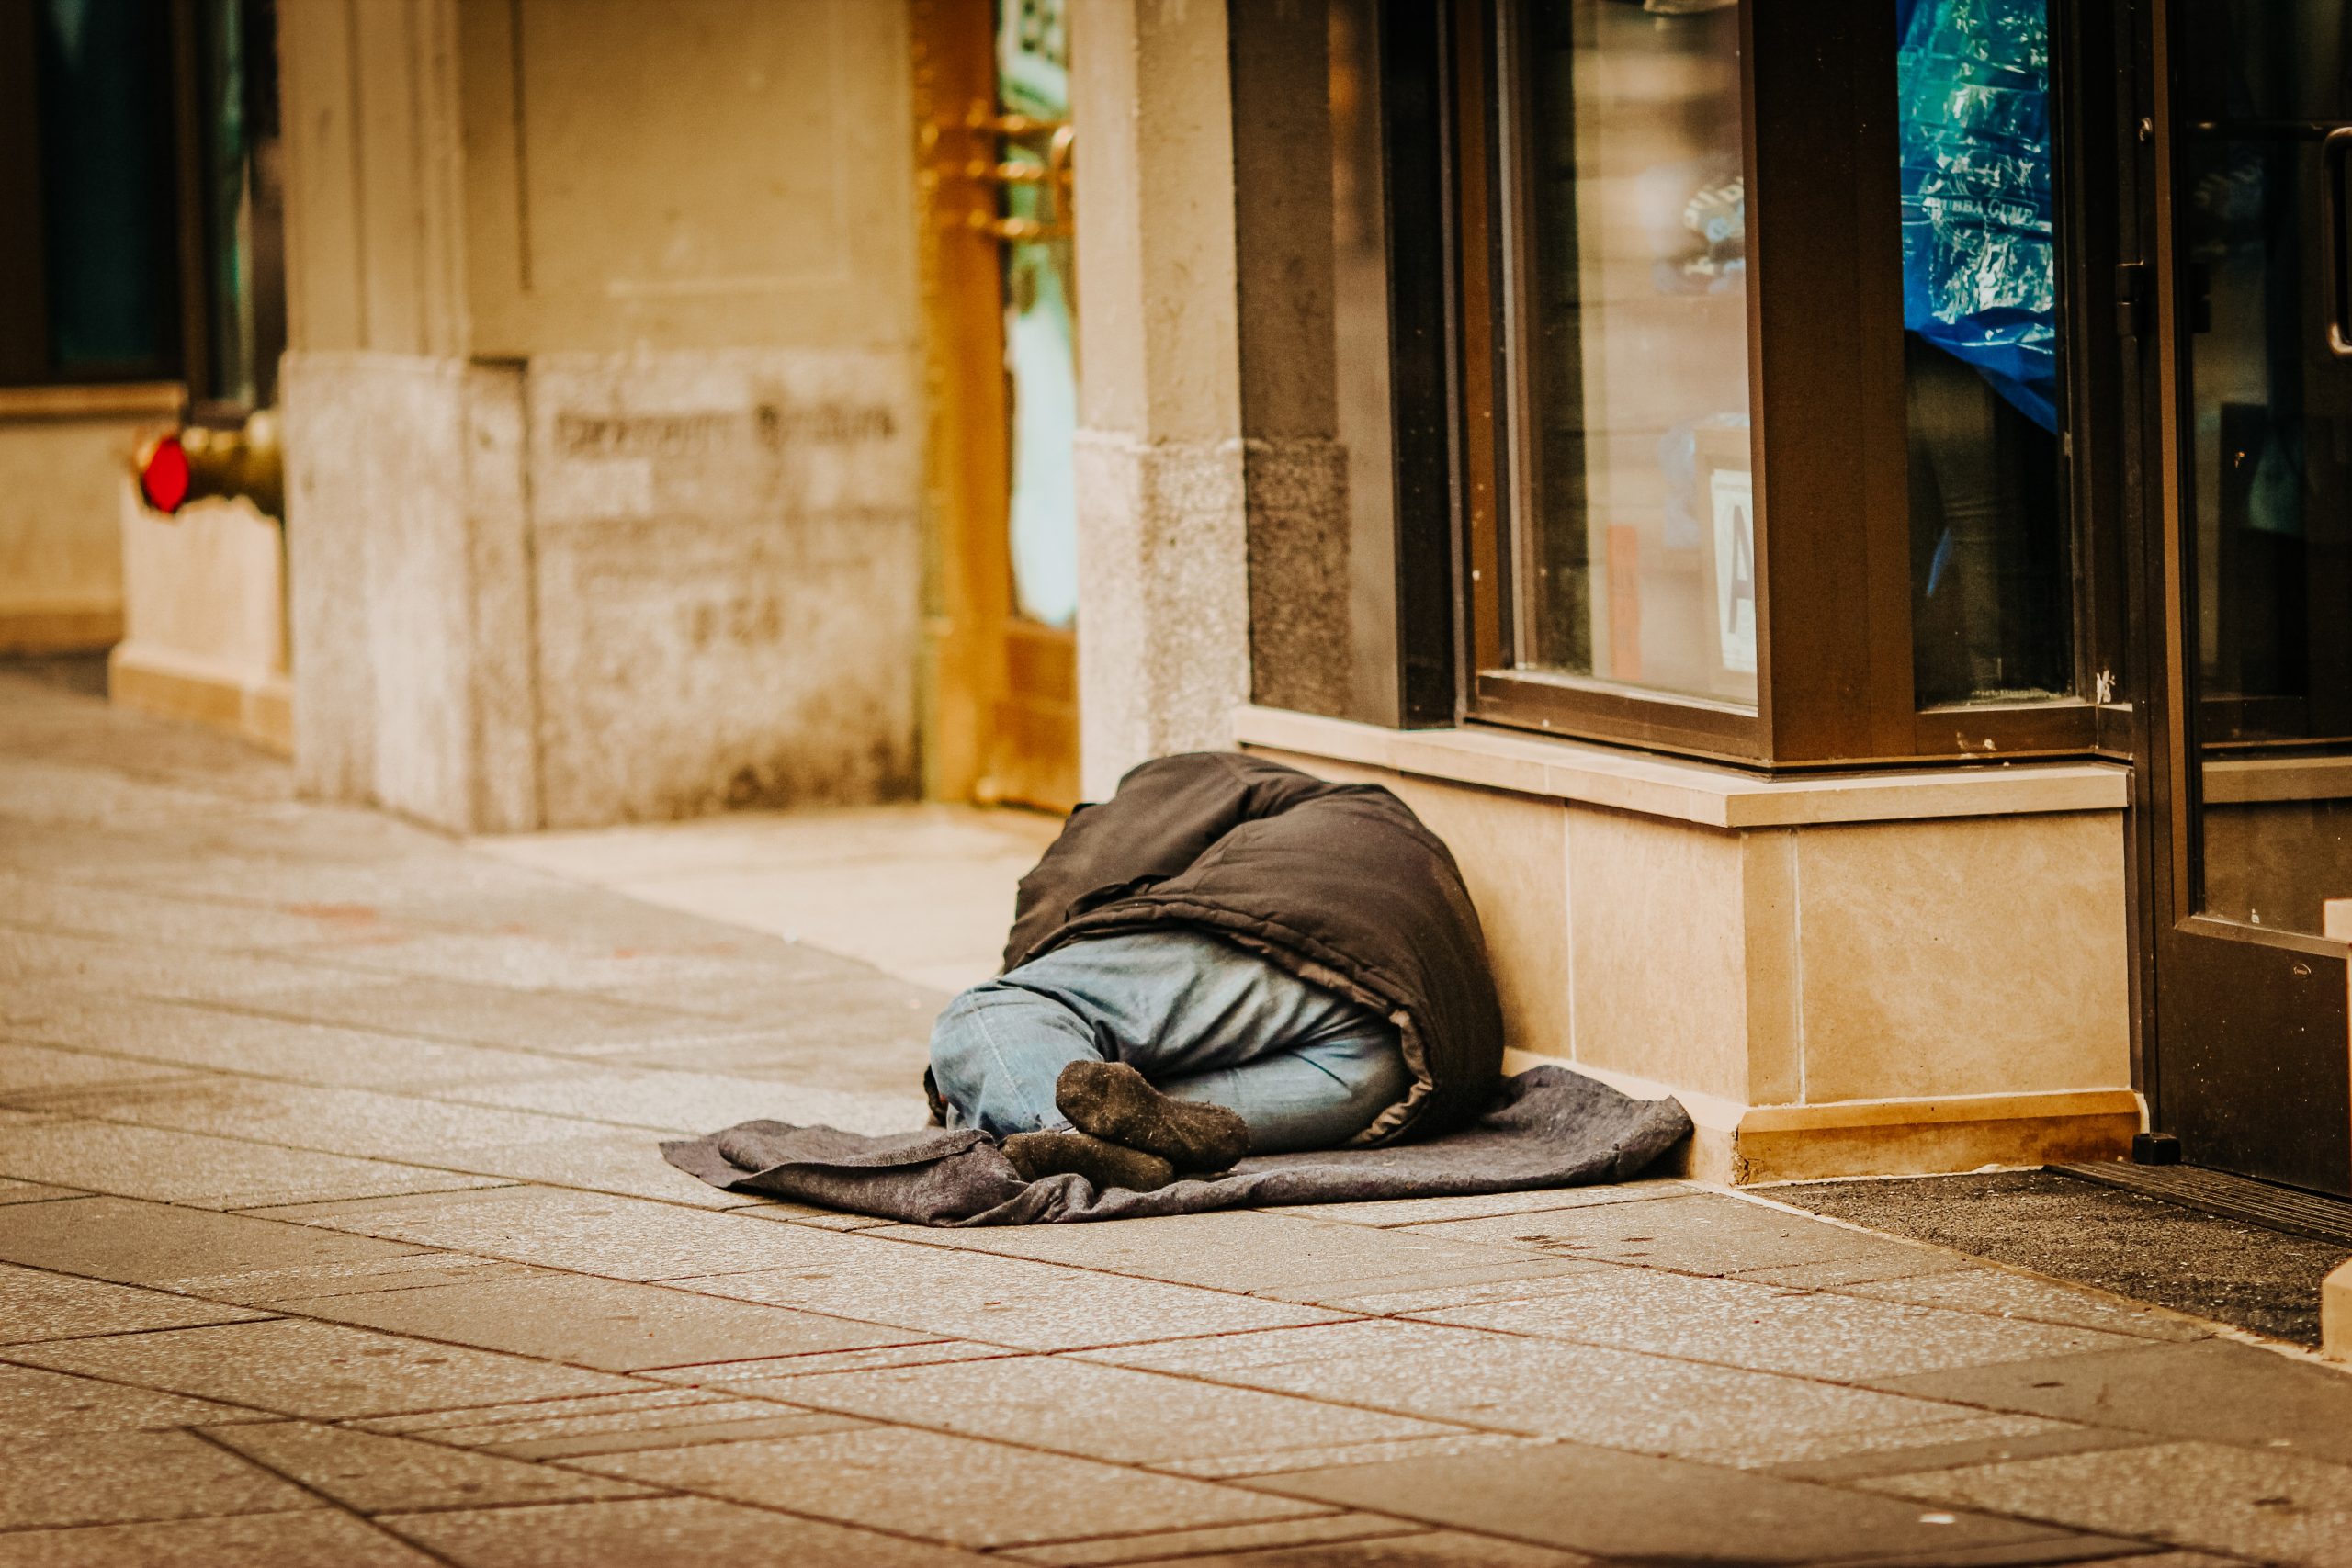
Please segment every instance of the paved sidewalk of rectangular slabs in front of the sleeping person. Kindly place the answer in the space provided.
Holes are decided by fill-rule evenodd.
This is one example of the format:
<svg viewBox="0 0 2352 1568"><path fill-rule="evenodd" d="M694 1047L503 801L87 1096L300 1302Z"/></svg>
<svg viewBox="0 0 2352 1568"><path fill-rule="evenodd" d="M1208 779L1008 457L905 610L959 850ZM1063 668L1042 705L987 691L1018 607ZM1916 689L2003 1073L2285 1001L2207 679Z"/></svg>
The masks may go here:
<svg viewBox="0 0 2352 1568"><path fill-rule="evenodd" d="M0 1566L2352 1563L2352 1378L1748 1197L741 1204L938 992L287 795L0 675Z"/></svg>

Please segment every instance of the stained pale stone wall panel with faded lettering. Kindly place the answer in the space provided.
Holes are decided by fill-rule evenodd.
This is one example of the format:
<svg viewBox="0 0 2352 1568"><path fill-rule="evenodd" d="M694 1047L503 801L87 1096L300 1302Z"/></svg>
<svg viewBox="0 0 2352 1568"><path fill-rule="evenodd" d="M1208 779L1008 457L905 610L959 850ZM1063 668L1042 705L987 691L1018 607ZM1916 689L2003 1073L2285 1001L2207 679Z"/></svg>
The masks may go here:
<svg viewBox="0 0 2352 1568"><path fill-rule="evenodd" d="M915 785L901 355L532 362L548 825Z"/></svg>

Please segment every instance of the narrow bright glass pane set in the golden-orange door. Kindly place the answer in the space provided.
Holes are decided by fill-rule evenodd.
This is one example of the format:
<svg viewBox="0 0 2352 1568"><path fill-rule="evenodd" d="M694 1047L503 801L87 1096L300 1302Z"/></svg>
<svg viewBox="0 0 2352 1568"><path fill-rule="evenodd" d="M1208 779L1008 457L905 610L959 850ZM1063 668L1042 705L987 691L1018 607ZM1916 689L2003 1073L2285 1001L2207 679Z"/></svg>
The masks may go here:
<svg viewBox="0 0 2352 1568"><path fill-rule="evenodd" d="M1070 45L1063 0L1002 0L997 9L997 101L1035 120L1070 115ZM1063 143L1068 146L1068 143ZM1042 136L1009 136L1004 160L1042 179L1004 186L1004 216L1049 235L1004 247L1004 374L1011 402L1014 607L1030 621L1077 621L1077 496L1070 440L1077 435L1077 353L1070 268L1068 167Z"/></svg>

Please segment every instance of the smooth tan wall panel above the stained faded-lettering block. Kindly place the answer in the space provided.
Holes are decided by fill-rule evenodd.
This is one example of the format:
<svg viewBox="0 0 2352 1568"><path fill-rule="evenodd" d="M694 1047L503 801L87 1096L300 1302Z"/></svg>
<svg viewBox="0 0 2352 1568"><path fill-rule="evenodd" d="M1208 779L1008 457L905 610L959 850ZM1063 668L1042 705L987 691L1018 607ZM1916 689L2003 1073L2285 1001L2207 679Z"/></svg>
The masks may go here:
<svg viewBox="0 0 2352 1568"><path fill-rule="evenodd" d="M903 5L468 7L480 353L908 346Z"/></svg>

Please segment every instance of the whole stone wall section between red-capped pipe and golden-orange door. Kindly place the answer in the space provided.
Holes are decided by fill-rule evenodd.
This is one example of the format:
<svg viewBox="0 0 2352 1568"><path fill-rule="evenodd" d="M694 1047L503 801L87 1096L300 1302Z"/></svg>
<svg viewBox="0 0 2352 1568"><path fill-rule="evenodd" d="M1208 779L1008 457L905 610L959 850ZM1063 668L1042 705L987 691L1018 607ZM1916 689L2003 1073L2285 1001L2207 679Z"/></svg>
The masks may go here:
<svg viewBox="0 0 2352 1568"><path fill-rule="evenodd" d="M915 790L903 7L280 7L294 750L461 830Z"/></svg>

